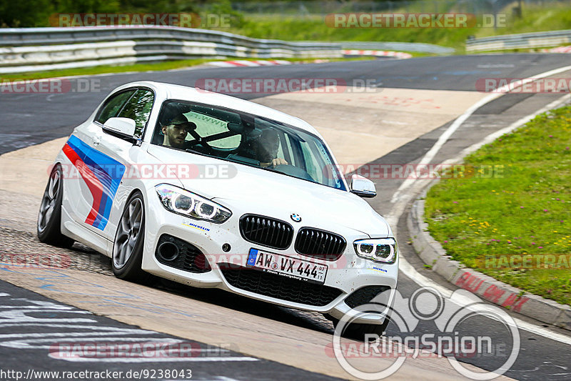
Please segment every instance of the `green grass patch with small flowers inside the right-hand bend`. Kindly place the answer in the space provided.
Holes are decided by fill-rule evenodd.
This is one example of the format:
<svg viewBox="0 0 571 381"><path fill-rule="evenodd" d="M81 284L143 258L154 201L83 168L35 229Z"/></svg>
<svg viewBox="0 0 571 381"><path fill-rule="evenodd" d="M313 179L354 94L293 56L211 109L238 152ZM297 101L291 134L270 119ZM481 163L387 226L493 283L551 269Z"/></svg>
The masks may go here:
<svg viewBox="0 0 571 381"><path fill-rule="evenodd" d="M571 269L486 268L485 256L571 253L571 106L535 117L465 158L484 174L428 192L430 234L453 259L542 297L571 304Z"/></svg>

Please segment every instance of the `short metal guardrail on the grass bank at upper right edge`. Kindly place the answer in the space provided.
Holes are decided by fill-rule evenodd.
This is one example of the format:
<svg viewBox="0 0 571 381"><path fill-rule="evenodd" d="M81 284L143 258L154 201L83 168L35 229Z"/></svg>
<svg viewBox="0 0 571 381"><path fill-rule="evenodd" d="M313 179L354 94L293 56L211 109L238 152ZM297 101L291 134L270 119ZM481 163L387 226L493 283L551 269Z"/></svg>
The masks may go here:
<svg viewBox="0 0 571 381"><path fill-rule="evenodd" d="M470 39L466 41L466 51L533 49L570 43L571 29L567 29Z"/></svg>

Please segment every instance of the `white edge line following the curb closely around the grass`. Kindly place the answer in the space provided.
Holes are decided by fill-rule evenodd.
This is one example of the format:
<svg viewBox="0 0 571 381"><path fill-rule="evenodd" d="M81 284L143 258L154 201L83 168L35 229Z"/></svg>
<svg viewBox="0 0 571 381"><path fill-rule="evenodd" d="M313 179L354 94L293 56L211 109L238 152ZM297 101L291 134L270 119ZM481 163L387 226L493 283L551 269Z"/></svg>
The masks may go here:
<svg viewBox="0 0 571 381"><path fill-rule="evenodd" d="M571 69L571 66L565 66L565 69ZM550 71L547 71L547 73L550 73ZM549 75L552 75L552 74L549 74ZM535 78L537 78L537 77L535 77ZM460 152L458 157L454 157L453 159L446 160L446 162L444 164L448 164L448 162L450 162L450 163L458 162L460 159L465 157L465 155L470 154L470 152L474 152L475 150L482 147L484 144L492 142L493 140L497 139L497 137L502 136L502 134L507 134L508 132L513 131L517 127L522 126L522 124L529 122L532 118L534 118L538 114L542 114L543 112L547 112L550 109L555 109L555 108L559 107L560 105L565 104L565 102L568 102L570 99L571 99L571 94L566 94L563 97L556 99L554 102L547 104L547 106L543 107L542 109L538 110L537 112L534 112L532 114L527 115L526 117L523 117L523 118L517 120L517 122L510 124L510 126L505 127L504 129L500 129L497 132L493 132L492 134L487 135L487 137L482 139L480 142L477 142L477 143L471 145L470 147L464 149L462 152ZM478 102L478 103L480 103L480 102ZM470 107L470 109L472 109L472 107ZM431 181L432 180L430 180L430 179L420 179L416 182L413 182L413 184L412 184L413 188L410 189L410 191L407 194L403 194L403 196L399 197L398 202L394 205L390 214L388 214L386 217L387 222L390 224L391 227L393 227L393 232L395 235L397 232L398 219L400 218L400 216L405 211L406 205L408 204L410 199L413 199L414 195L418 194L418 192L420 192ZM419 286L434 287L444 297L450 297L450 295L452 295L452 291L450 289L448 289L447 287L443 287L442 285L438 284L437 282L434 282L432 279L425 277L423 274L420 274L420 272L416 271L416 269L410 263L408 263L408 261L404 257L401 256L399 258L399 262L400 262L400 264L399 264L400 271L403 272L403 274L405 274L407 277L412 279L413 282L415 282ZM547 330L545 327L541 327L539 325L535 325L535 324L532 324L530 322L525 322L524 320L520 320L517 317L513 317L513 320L517 324L517 327L520 328L520 330L525 330L527 332L534 333L535 335L547 337L550 340L555 340L555 341L562 342L562 343L567 344L567 345L571 345L571 337L569 337L569 336L562 335L560 333L553 332L551 330Z"/></svg>

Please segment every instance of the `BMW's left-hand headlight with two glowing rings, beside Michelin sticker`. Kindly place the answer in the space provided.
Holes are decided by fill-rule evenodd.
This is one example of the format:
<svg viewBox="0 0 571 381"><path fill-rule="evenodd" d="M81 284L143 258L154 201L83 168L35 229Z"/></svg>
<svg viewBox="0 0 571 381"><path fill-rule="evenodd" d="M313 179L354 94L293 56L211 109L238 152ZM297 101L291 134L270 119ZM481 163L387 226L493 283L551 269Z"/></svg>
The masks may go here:
<svg viewBox="0 0 571 381"><path fill-rule="evenodd" d="M232 215L232 212L222 205L174 185L158 184L155 189L161 203L171 212L195 219L206 219L216 224L221 224Z"/></svg>

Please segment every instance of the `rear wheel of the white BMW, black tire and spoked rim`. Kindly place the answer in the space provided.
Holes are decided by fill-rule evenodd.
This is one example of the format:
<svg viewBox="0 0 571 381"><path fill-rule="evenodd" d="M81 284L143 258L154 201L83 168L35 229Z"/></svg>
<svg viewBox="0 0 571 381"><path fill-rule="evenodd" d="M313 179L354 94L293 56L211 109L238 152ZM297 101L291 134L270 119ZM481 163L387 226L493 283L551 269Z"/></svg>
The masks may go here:
<svg viewBox="0 0 571 381"><path fill-rule="evenodd" d="M38 214L38 239L59 247L71 247L74 240L61 234L61 200L64 198L64 176L56 164L49 175Z"/></svg>

